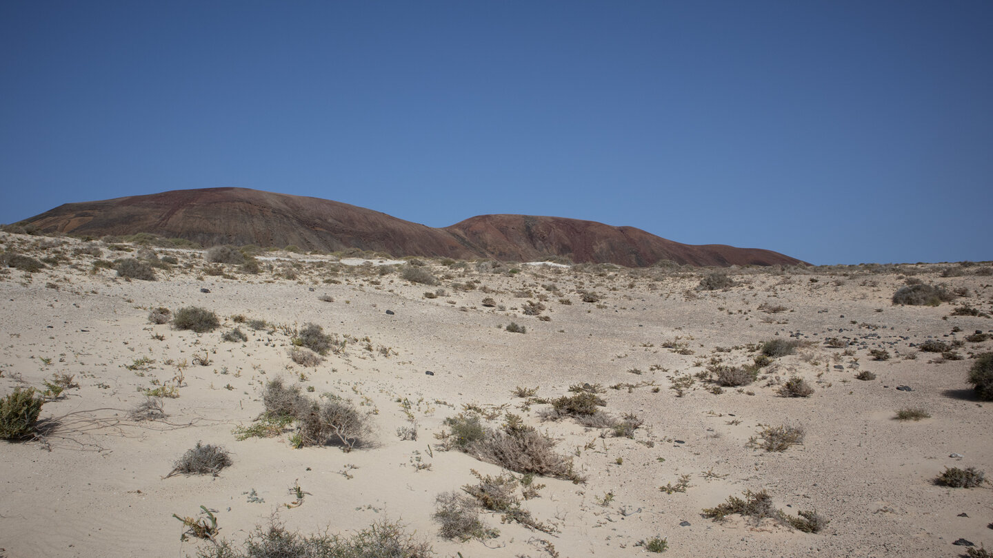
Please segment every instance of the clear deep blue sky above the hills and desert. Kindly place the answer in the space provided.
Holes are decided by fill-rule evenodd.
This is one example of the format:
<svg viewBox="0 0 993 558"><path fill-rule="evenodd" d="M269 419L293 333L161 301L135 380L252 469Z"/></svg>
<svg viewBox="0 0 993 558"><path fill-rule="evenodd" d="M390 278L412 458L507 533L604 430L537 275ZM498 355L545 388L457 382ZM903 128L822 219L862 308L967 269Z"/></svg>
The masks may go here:
<svg viewBox="0 0 993 558"><path fill-rule="evenodd" d="M236 186L993 259L993 2L0 2L0 222Z"/></svg>

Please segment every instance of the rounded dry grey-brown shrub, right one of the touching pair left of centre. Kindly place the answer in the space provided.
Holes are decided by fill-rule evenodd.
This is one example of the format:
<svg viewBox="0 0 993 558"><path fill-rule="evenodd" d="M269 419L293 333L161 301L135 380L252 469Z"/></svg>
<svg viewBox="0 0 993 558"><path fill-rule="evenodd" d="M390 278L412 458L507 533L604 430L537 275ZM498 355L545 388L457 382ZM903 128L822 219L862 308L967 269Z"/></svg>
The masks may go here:
<svg viewBox="0 0 993 558"><path fill-rule="evenodd" d="M367 443L371 434L365 416L344 399L315 402L310 412L297 415L297 420L301 446L340 444L343 450L351 452L355 446Z"/></svg>

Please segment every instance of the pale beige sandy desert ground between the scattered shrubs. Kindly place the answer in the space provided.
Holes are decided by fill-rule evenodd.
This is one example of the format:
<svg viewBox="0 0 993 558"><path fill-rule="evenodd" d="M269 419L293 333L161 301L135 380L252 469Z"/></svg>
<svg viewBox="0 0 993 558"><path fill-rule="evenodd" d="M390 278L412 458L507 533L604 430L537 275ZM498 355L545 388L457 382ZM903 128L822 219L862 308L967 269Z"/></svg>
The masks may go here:
<svg viewBox="0 0 993 558"><path fill-rule="evenodd" d="M273 515L290 530L346 536L397 522L435 555L466 558L652 555L657 539L671 556L993 547L990 485L933 482L945 468L993 474L993 403L966 382L971 356L993 350L966 338L993 332L993 320L953 314L993 314L988 262L729 269L733 286L701 290L714 270L415 261L439 281L427 285L405 280L411 264L395 260L267 252L258 273L244 273L203 250L9 233L0 244L45 263L0 270L0 396L78 384L48 397L33 439L0 442L0 556L209 553L213 542L182 540L173 516L203 519L201 506L213 510L216 540L236 548ZM155 281L108 267L135 256L159 260ZM908 281L963 296L894 305ZM197 334L153 324L159 307L203 308L220 325ZM307 324L336 344L316 366L289 355ZM224 341L235 328L245 339ZM799 343L757 366L773 340ZM946 350L923 351L927 341ZM757 378L722 387L722 369ZM780 395L794 376L812 394ZM294 448L293 425L238 440L275 378L351 402L370 434L351 452ZM156 390L175 395L161 398L167 416L136 420ZM605 403L601 424L628 428L552 416L551 403L583 393ZM907 409L929 417L895 418ZM479 417L499 431L511 415L556 441L576 480L536 478L530 488L543 488L527 498L518 481L514 513L480 513L496 538L440 536L439 494L471 498L462 488L480 484L474 471L505 472L445 439L446 419ZM779 426L802 429L802 443L759 447ZM223 447L231 465L169 476L200 441ZM815 510L829 522L808 533L776 518L702 515L746 490L766 490L783 517Z"/></svg>

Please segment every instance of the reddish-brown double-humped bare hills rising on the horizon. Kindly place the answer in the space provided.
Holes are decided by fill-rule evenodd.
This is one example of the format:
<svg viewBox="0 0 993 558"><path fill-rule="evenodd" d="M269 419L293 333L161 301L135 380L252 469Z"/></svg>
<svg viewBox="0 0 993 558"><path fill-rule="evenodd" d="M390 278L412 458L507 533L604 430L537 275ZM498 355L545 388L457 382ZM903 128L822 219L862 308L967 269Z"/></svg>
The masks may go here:
<svg viewBox="0 0 993 558"><path fill-rule="evenodd" d="M179 190L65 204L21 221L43 232L103 236L151 232L213 244L307 250L350 248L396 256L488 257L511 261L567 256L631 267L668 259L691 265L802 263L770 250L693 246L631 226L531 215L480 215L432 228L348 204L243 188Z"/></svg>

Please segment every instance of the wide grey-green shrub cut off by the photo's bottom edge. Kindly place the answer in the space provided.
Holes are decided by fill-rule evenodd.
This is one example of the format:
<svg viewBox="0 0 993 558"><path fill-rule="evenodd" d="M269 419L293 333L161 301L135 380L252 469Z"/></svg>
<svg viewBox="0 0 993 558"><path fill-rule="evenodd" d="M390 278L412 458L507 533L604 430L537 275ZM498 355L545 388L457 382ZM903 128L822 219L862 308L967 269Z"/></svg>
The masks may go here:
<svg viewBox="0 0 993 558"><path fill-rule="evenodd" d="M414 539L397 522L379 521L352 536L289 531L275 518L248 534L244 549L229 541L205 546L198 558L429 558L431 546Z"/></svg>

